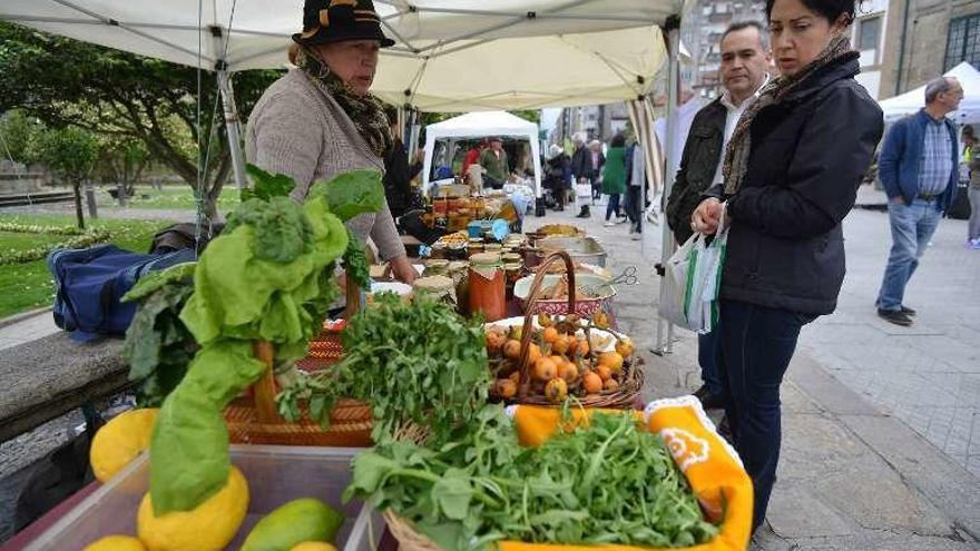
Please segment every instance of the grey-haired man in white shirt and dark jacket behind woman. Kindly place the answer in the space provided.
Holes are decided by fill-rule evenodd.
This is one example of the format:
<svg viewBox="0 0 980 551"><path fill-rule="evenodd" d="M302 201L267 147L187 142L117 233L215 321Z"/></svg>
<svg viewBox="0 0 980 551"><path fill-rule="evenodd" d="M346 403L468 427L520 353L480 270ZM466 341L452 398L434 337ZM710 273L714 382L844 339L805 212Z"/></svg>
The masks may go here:
<svg viewBox="0 0 980 551"><path fill-rule="evenodd" d="M667 223L677 243L693 234L690 215L700 203L700 194L722 181L725 147L738 118L768 82L768 35L756 21L732 23L722 35L722 97L694 117L680 157L680 168L667 200ZM705 409L724 407L724 387L715 358L715 332L698 335L698 363L704 385L695 392Z"/></svg>

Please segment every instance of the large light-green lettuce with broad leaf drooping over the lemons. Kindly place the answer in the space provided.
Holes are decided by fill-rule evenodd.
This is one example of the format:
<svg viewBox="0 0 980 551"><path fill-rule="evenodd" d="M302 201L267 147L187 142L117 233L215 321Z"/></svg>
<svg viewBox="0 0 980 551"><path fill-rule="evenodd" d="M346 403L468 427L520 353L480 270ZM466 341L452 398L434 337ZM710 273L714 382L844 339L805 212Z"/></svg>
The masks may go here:
<svg viewBox="0 0 980 551"><path fill-rule="evenodd" d="M200 348L164 401L150 442L157 514L190 510L225 483L231 464L222 411L266 368L253 357L253 343L272 343L277 363L305 354L339 296L336 262L356 259L359 249L363 255L343 223L384 205L381 176L373 171L317 183L302 205L287 197L287 176L254 166L249 174L254 189L200 255L194 292L180 311ZM366 278L366 265L351 268Z"/></svg>

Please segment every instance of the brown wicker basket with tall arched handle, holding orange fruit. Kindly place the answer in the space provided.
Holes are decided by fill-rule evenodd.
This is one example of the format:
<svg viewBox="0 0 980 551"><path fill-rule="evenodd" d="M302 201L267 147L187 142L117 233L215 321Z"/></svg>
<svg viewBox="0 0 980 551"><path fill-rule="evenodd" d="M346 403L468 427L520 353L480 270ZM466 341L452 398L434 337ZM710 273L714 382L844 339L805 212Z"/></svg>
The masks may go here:
<svg viewBox="0 0 980 551"><path fill-rule="evenodd" d="M527 314L525 314L525 324L521 331L520 383L518 383L517 396L508 402L556 406L556 404L552 404L545 396L530 394L531 366L528 364L528 354L530 353L531 336L533 333L533 312L536 312L533 306L541 293L541 286L545 281L545 274L548 273L548 267L557 262L565 263L566 273L568 274L568 288L575 289L575 264L571 262L571 256L564 250L556 250L548 255L548 257L545 258L545 262L541 263L541 267L538 269L538 274L531 283L531 289L528 292L528 308ZM568 294L567 312L576 312L574 292ZM585 407L606 407L615 410L631 410L636 407L636 405L640 403L639 395L644 383L643 361L637 357L631 362L625 362L623 364L623 370L625 374L618 388L615 391L604 390L598 394L584 396L579 399L581 405Z"/></svg>

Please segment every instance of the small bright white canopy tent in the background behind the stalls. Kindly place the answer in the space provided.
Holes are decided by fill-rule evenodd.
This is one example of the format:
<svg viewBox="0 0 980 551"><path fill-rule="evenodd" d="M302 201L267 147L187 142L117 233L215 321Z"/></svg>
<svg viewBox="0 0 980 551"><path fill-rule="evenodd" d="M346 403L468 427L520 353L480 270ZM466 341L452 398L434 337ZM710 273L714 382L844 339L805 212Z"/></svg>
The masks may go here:
<svg viewBox="0 0 980 551"><path fill-rule="evenodd" d="M425 161L422 168L422 189L429 189L429 175L432 170L432 156L438 140L459 141L491 136L521 138L531 142L535 165L535 193L541 196L541 146L538 140L538 125L513 116L507 111L477 111L460 115L442 122L425 127ZM451 159L450 159L451 160Z"/></svg>

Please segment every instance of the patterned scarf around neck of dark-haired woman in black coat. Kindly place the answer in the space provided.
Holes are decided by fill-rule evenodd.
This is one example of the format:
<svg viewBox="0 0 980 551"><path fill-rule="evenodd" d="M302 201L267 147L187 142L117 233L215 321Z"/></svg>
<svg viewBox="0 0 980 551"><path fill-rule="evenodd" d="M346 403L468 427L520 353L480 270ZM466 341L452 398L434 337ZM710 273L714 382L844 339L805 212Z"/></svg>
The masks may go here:
<svg viewBox="0 0 980 551"><path fill-rule="evenodd" d="M755 116L768 106L778 105L800 82L851 51L851 40L847 38L847 33L841 33L831 40L819 58L807 63L795 75L775 78L759 90L758 97L738 119L738 124L732 132L732 139L728 141L728 148L725 149L722 176L725 180L726 195L738 193L745 173L748 170L748 154L752 151L752 132L749 130Z"/></svg>

